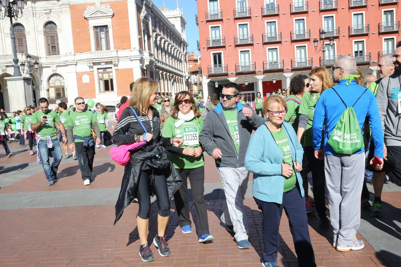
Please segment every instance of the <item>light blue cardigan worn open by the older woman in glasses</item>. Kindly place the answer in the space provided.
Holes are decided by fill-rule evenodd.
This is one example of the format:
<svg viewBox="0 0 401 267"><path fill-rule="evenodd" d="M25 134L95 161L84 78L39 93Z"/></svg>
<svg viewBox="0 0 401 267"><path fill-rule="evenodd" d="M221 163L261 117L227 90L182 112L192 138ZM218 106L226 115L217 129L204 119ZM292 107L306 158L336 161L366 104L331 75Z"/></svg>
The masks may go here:
<svg viewBox="0 0 401 267"><path fill-rule="evenodd" d="M302 163L304 149L298 142L294 128L288 122L282 124L286 132L291 155L299 163ZM290 138L289 138L290 137ZM292 140L292 142L291 142ZM294 147L295 146L295 147ZM253 173L253 197L266 202L281 204L283 202L284 176L282 176L283 153L275 144L273 137L265 125L257 128L249 141L245 156L245 168ZM294 163L295 171L295 163ZM300 185L301 195L304 197L302 177L296 172Z"/></svg>

